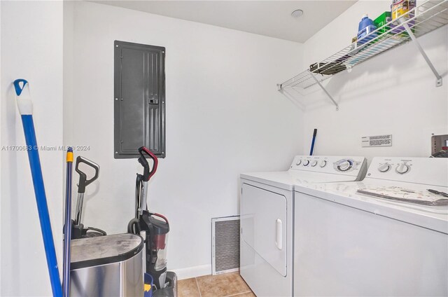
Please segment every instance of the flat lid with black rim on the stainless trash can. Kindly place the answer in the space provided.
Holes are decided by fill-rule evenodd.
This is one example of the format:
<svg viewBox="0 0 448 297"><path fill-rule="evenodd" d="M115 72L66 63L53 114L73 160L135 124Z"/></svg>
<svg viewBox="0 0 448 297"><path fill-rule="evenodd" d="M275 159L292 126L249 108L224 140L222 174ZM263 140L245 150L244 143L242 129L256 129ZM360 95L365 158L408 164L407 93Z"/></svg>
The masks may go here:
<svg viewBox="0 0 448 297"><path fill-rule="evenodd" d="M143 239L130 233L71 240L70 270L125 261L143 248Z"/></svg>

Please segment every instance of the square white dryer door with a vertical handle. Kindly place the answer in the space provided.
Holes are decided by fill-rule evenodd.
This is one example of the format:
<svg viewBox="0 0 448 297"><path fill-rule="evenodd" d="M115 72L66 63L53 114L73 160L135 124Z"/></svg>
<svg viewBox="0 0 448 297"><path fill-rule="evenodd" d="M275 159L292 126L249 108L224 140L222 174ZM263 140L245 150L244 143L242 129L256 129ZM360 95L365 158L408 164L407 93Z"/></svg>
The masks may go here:
<svg viewBox="0 0 448 297"><path fill-rule="evenodd" d="M241 238L269 265L286 276L286 197L242 185Z"/></svg>

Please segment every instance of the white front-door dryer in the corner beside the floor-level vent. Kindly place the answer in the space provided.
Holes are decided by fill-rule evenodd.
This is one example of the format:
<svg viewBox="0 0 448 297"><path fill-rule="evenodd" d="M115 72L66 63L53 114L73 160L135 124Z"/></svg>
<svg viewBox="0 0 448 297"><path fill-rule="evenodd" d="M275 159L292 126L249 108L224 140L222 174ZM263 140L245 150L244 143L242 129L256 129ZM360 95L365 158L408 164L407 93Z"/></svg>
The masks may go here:
<svg viewBox="0 0 448 297"><path fill-rule="evenodd" d="M240 274L257 296L293 296L294 185L366 170L363 157L296 156L285 172L241 174Z"/></svg>

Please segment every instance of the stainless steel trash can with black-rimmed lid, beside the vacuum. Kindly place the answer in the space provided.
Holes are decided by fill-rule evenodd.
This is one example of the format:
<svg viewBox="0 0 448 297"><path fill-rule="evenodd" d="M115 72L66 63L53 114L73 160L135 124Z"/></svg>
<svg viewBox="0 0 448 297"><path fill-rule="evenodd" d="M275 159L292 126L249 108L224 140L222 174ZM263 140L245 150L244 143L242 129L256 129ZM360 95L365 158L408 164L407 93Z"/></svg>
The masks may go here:
<svg viewBox="0 0 448 297"><path fill-rule="evenodd" d="M72 240L70 296L144 296L143 250L134 234Z"/></svg>

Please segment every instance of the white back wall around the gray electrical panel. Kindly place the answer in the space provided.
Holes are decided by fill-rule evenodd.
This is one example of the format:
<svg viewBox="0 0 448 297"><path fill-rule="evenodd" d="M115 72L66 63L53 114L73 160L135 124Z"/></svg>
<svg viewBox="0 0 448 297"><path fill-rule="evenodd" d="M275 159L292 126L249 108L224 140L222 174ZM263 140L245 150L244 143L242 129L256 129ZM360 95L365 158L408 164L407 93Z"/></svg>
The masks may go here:
<svg viewBox="0 0 448 297"><path fill-rule="evenodd" d="M87 188L85 224L125 232L141 172L135 159L113 159L113 41L165 46L167 158L149 207L170 220L169 269L209 274L211 218L239 213L239 173L284 170L302 153L302 112L276 91L303 67L302 45L87 2L73 13L64 138L90 146L82 155L101 166Z"/></svg>

